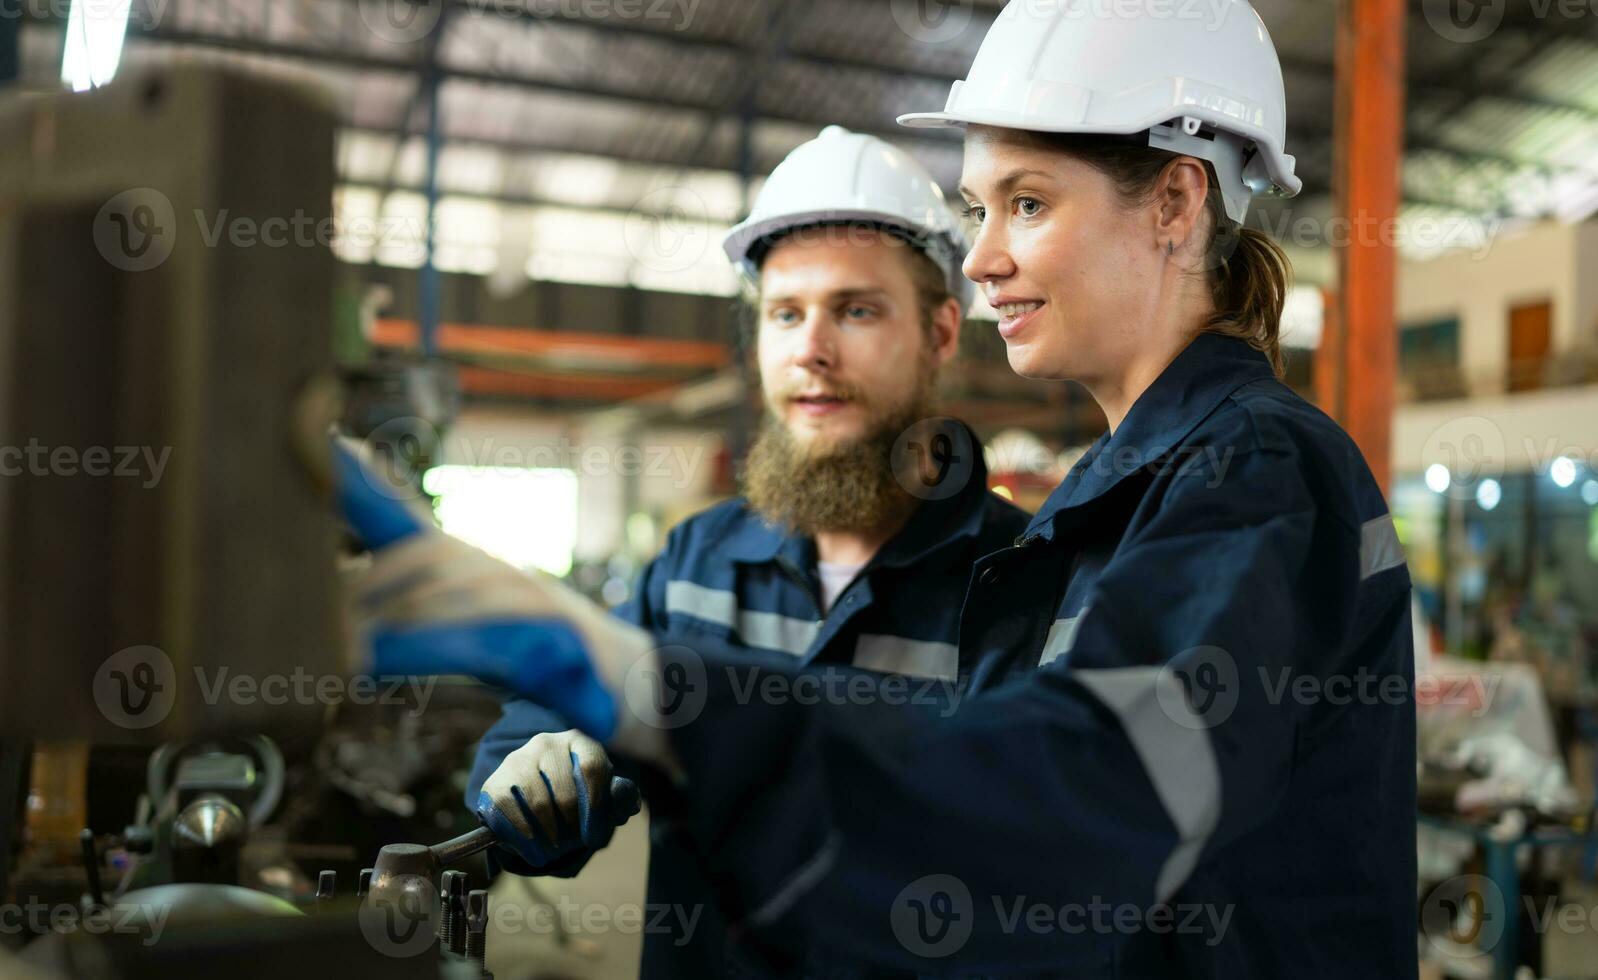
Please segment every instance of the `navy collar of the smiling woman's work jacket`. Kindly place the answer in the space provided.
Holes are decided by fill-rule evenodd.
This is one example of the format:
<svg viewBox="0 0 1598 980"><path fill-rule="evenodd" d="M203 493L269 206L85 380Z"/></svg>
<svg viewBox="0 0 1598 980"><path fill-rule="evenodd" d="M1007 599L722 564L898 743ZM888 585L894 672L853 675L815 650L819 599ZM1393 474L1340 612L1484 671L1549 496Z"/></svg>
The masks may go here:
<svg viewBox="0 0 1598 980"><path fill-rule="evenodd" d="M1053 537L1055 516L1103 497L1178 448L1245 384L1274 379L1270 361L1238 337L1198 334L1138 396L1114 435L1101 435L1032 518L1028 534Z"/></svg>

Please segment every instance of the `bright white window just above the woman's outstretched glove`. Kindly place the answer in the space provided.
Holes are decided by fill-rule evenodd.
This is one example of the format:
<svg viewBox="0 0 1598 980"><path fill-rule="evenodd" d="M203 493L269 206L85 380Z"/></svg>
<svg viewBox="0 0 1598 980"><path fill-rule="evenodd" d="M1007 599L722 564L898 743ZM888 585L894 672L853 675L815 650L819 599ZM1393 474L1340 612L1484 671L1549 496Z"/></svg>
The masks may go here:
<svg viewBox="0 0 1598 980"><path fill-rule="evenodd" d="M444 531L519 569L572 571L577 473L526 467L433 467L423 488Z"/></svg>

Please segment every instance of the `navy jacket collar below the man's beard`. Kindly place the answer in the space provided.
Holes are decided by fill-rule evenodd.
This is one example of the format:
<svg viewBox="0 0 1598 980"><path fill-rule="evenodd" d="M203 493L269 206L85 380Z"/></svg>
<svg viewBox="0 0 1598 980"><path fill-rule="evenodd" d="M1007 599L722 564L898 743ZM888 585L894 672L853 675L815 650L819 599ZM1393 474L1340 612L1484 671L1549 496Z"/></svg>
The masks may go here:
<svg viewBox="0 0 1598 980"><path fill-rule="evenodd" d="M938 419L938 427L954 443L949 480L960 480L959 489L943 499L927 499L916 508L909 521L873 558L873 568L908 566L956 542L981 532L988 504L988 462L983 444L972 428L957 419ZM965 460L970 460L968 475ZM753 510L749 520L727 548L733 561L759 564L781 556L797 569L815 568L815 540L791 534L786 528L769 524Z"/></svg>

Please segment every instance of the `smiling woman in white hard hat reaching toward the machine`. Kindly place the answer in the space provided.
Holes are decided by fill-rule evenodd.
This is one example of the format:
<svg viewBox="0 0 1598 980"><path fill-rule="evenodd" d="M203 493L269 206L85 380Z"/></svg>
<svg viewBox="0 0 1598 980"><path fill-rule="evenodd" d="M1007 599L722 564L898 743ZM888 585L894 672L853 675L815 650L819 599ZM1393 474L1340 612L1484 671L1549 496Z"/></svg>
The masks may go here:
<svg viewBox="0 0 1598 980"><path fill-rule="evenodd" d="M368 584L377 668L486 676L676 774L777 966L1413 977L1409 579L1360 451L1280 380L1286 262L1240 229L1299 187L1277 54L1243 0L1095 10L1012 3L901 118L965 126L1010 365L1109 420L973 569L959 703L650 636L428 529ZM548 775L484 787L502 846Z"/></svg>

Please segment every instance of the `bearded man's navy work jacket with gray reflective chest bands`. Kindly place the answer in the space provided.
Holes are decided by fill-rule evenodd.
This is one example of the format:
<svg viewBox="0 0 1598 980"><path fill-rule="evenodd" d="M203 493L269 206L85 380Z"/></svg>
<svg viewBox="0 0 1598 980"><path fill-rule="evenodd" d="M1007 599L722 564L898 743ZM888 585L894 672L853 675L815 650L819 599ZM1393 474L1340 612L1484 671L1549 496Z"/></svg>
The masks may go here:
<svg viewBox="0 0 1598 980"><path fill-rule="evenodd" d="M634 596L615 615L692 644L716 644L793 665L849 665L898 675L906 702L949 703L959 684L960 598L975 563L1012 547L1026 512L988 489L988 467L975 433L946 419L927 432L948 443L941 468L906 526L890 539L823 615L815 542L765 523L743 499L727 500L671 531L665 550L644 569ZM484 734L467 780L468 809L483 782L507 755L539 732L570 727L558 715L508 699ZM626 775L647 775L630 771ZM663 780L647 780L650 871L642 975L650 980L705 980L743 975L725 951L716 903L678 804ZM591 857L578 852L556 865L531 868L508 852L492 852L491 868L518 874L572 876ZM686 927L686 924L692 924ZM812 974L834 967L812 964Z"/></svg>

